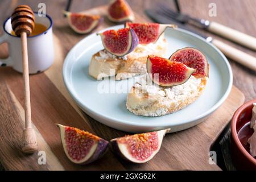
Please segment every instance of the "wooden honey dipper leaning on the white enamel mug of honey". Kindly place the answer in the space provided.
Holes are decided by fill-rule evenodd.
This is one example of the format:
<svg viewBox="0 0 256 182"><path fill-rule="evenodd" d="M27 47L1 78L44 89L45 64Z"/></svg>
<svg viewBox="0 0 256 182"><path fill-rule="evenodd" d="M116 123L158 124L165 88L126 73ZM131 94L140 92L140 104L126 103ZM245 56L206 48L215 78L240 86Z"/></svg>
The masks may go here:
<svg viewBox="0 0 256 182"><path fill-rule="evenodd" d="M16 34L21 38L22 63L23 63L23 81L25 94L25 129L22 134L22 151L26 154L32 154L38 150L35 131L31 123L30 106L30 81L28 72L27 55L27 36L29 36L35 27L35 16L31 8L27 5L19 5L11 15L11 26Z"/></svg>

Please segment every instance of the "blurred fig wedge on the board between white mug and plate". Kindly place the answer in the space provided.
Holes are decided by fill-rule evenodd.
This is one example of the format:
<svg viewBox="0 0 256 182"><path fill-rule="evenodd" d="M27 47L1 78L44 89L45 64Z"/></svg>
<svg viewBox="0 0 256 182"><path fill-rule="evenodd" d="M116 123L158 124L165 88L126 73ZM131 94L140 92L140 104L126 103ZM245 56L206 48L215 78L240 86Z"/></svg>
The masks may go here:
<svg viewBox="0 0 256 182"><path fill-rule="evenodd" d="M92 32L102 22L100 15L71 13L68 11L63 11L63 13L67 15L69 26L79 34Z"/></svg>

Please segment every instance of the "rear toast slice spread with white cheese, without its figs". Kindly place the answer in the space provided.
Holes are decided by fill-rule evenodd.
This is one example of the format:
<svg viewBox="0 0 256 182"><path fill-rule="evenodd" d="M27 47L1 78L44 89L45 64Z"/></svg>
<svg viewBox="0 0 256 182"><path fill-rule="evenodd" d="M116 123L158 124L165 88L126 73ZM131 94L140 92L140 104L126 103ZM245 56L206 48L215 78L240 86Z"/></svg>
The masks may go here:
<svg viewBox="0 0 256 182"><path fill-rule="evenodd" d="M115 75L115 80L122 80L147 72L146 61L150 54L163 56L167 51L168 43L161 35L156 43L139 44L135 50L123 57L117 57L105 49L92 56L89 66L89 75L101 80L103 77Z"/></svg>

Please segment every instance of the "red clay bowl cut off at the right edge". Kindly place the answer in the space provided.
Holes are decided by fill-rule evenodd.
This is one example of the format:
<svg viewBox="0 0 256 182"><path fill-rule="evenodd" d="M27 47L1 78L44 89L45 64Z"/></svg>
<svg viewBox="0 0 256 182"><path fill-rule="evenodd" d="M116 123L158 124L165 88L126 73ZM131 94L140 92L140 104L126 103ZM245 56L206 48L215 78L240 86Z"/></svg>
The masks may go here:
<svg viewBox="0 0 256 182"><path fill-rule="evenodd" d="M239 107L231 121L231 155L234 165L240 170L256 170L256 159L250 155L247 143L254 132L249 126L253 102L256 99Z"/></svg>

